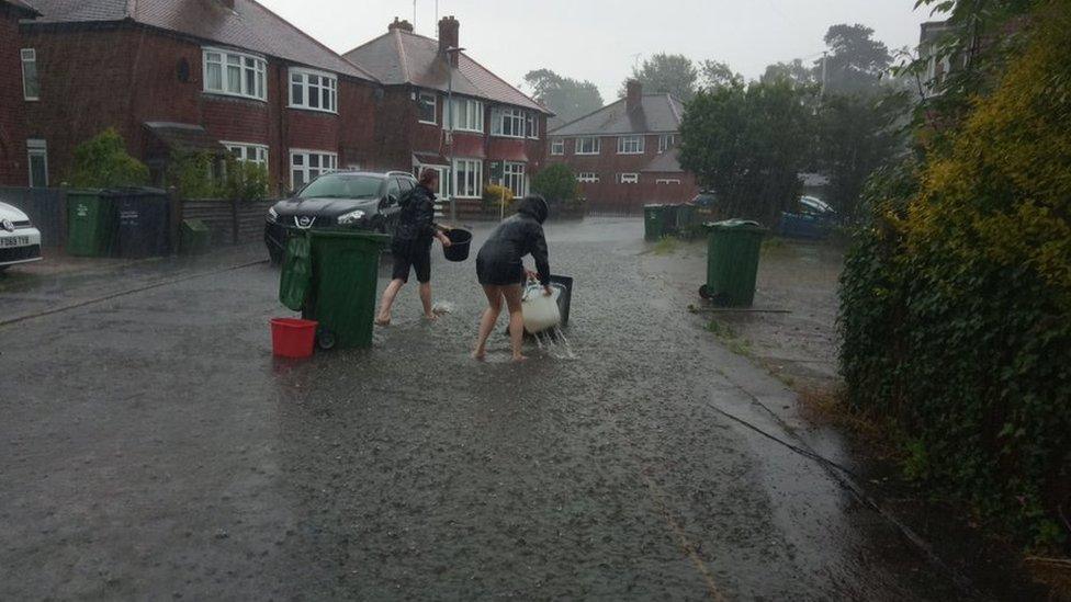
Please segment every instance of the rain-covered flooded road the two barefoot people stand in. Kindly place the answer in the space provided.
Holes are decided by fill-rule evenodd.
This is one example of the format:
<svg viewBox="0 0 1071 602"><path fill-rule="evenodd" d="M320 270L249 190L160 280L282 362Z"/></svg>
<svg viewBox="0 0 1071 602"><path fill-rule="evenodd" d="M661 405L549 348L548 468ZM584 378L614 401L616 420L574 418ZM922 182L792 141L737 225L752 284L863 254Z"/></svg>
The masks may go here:
<svg viewBox="0 0 1071 602"><path fill-rule="evenodd" d="M450 314L410 285L307 362L271 356L267 264L0 328L0 599L965 598L770 439L792 394L642 266L642 222L548 239L574 357L472 361L483 293L438 251Z"/></svg>

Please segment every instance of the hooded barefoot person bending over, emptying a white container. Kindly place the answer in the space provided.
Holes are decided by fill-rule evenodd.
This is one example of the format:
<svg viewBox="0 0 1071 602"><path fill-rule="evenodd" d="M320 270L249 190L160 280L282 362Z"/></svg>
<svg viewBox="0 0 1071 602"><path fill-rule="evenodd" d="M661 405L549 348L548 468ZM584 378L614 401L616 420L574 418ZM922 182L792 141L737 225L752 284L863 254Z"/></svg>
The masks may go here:
<svg viewBox="0 0 1071 602"><path fill-rule="evenodd" d="M525 280L538 277L543 285L543 294L551 295L551 266L546 238L543 236L545 219L546 201L542 196L526 196L517 207L517 215L499 224L480 249L476 255L476 276L487 295L487 310L480 321L480 338L476 340L473 357L483 360L486 355L487 338L498 321L505 298L509 310L509 338L514 361L527 360L521 353L525 317L521 315L520 300ZM527 254L536 260L536 272L525 270L521 258Z"/></svg>

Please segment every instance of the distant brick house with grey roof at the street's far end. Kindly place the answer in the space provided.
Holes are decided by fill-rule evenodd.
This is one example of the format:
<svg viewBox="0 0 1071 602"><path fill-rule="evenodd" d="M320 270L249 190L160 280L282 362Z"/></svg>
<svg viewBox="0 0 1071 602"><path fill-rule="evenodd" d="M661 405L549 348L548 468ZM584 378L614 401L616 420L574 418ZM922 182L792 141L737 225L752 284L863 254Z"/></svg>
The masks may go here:
<svg viewBox="0 0 1071 602"><path fill-rule="evenodd" d="M677 161L684 105L669 94L644 94L636 81L627 95L549 134L546 160L565 163L591 208L636 213L645 203L684 203L696 179Z"/></svg>

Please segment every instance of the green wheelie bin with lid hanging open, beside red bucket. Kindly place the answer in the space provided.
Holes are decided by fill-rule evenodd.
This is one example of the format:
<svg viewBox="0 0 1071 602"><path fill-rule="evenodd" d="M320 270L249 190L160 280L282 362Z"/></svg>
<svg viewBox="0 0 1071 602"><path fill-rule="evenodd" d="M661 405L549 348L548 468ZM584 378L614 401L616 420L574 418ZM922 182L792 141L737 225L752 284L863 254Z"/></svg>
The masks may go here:
<svg viewBox="0 0 1071 602"><path fill-rule="evenodd" d="M316 320L320 349L372 347L380 251L391 237L312 230L312 282L302 317Z"/></svg>

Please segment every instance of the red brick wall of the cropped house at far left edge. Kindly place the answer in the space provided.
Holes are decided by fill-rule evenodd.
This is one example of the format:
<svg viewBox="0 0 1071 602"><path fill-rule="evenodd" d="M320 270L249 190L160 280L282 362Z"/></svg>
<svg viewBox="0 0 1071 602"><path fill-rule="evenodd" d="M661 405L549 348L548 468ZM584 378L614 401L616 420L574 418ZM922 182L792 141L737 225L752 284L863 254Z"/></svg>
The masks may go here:
<svg viewBox="0 0 1071 602"><path fill-rule="evenodd" d="M21 48L19 14L0 4L0 185L24 186L29 180Z"/></svg>

